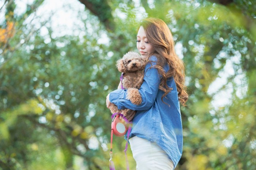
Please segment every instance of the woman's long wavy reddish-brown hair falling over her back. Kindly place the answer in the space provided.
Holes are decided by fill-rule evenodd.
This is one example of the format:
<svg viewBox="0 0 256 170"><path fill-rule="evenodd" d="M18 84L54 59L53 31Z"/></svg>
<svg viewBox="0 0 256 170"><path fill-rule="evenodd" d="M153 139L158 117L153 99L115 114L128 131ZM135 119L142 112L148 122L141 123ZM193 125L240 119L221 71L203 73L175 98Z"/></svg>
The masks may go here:
<svg viewBox="0 0 256 170"><path fill-rule="evenodd" d="M146 18L140 23L145 30L148 42L154 47L154 52L151 55L157 57L157 63L154 66L158 73L162 76L159 89L164 92L163 98L172 90L167 85L167 78L173 76L178 91L178 99L185 106L188 100L188 94L185 86L185 67L183 61L178 58L174 50L174 40L170 29L166 23L157 18ZM151 56L150 55L150 56ZM148 62L148 59L146 59ZM166 62L170 69L168 72L163 70Z"/></svg>

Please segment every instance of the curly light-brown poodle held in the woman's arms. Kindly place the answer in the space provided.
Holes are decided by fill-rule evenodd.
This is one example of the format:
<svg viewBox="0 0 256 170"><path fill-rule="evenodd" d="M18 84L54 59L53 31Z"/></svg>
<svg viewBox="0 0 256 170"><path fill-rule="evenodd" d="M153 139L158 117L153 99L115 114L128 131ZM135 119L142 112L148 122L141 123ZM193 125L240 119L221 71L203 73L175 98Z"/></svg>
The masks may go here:
<svg viewBox="0 0 256 170"><path fill-rule="evenodd" d="M143 83L145 65L146 63L142 56L131 51L118 60L116 64L118 71L124 73L123 80L122 82L120 81L118 89L123 84L124 89L127 89L126 99L131 100L133 104L139 105L142 102L138 89ZM123 112L124 116L129 115L131 112L130 109L118 110L117 106L113 103L110 104L109 109L112 113Z"/></svg>

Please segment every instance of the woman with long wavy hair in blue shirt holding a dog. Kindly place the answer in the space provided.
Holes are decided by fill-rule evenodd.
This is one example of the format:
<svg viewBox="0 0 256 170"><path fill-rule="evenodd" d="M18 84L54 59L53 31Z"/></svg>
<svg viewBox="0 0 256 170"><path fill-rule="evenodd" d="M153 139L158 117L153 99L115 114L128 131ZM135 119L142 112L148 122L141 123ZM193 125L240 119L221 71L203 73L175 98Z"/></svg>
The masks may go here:
<svg viewBox="0 0 256 170"><path fill-rule="evenodd" d="M160 19L142 20L137 48L146 60L144 82L139 89L142 103L126 99L127 90L111 92L106 105L136 110L129 143L138 170L174 169L182 154L180 103L185 105L185 71L174 50L173 36Z"/></svg>

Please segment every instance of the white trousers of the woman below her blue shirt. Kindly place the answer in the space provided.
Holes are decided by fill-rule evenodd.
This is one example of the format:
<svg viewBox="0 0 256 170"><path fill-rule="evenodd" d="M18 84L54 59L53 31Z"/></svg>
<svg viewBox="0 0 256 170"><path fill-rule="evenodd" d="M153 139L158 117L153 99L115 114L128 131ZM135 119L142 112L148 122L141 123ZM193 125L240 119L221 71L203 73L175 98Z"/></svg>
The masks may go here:
<svg viewBox="0 0 256 170"><path fill-rule="evenodd" d="M139 137L129 139L137 170L173 170L173 162L156 143Z"/></svg>

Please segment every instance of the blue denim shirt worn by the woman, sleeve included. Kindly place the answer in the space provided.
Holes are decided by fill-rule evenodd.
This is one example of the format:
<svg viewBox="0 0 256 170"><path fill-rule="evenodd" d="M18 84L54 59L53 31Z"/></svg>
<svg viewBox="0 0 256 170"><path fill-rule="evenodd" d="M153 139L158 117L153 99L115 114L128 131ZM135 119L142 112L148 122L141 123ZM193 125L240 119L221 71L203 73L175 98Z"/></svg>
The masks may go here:
<svg viewBox="0 0 256 170"><path fill-rule="evenodd" d="M150 60L155 65L157 58L152 56ZM156 142L172 159L174 167L177 166L182 154L183 135L180 114L180 103L173 77L167 84L173 88L166 97L161 97L163 91L159 90L160 78L156 68L150 68L147 63L144 73L144 82L139 89L142 96L140 105L132 104L126 99L127 90L118 89L110 93L109 100L116 104L118 109L129 108L137 110L132 123L130 137L137 136L148 141ZM166 64L164 70L169 70Z"/></svg>

